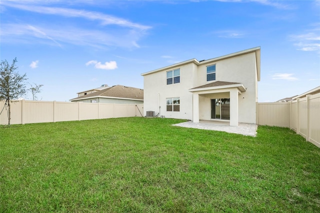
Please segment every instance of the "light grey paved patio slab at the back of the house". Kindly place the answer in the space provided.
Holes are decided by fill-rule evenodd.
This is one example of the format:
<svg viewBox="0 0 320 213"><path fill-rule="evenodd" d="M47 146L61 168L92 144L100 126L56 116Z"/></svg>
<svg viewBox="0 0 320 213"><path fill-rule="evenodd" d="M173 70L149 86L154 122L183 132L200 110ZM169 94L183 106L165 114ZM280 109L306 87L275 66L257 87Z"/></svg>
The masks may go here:
<svg viewBox="0 0 320 213"><path fill-rule="evenodd" d="M200 120L198 123L192 121L173 124L175 126L199 128L207 130L225 131L229 133L256 135L257 125L255 123L239 123L238 126L230 126L228 121Z"/></svg>

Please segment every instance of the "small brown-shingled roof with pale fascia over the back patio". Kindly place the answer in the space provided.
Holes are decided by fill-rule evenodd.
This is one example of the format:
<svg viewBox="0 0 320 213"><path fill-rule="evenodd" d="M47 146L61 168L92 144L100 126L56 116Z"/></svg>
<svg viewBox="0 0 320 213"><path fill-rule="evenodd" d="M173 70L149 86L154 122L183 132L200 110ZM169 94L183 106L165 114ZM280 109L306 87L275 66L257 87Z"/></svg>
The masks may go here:
<svg viewBox="0 0 320 213"><path fill-rule="evenodd" d="M237 88L238 93L241 94L242 91L245 91L246 88L244 87L243 83L237 82L227 82L227 81L215 81L212 83L207 83L201 86L197 86L194 88L190 88L189 92L210 92L209 90L220 90L220 89L230 89L230 88Z"/></svg>

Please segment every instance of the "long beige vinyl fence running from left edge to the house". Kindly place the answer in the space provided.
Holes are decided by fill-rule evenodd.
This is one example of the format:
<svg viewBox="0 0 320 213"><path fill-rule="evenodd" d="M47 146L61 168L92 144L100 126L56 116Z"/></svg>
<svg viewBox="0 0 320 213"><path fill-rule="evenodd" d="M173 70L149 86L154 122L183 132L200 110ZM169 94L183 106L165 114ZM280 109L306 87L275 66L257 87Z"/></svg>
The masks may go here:
<svg viewBox="0 0 320 213"><path fill-rule="evenodd" d="M8 108L0 101L0 124L8 124ZM58 101L10 101L10 124L58 122L142 116L143 104L113 104Z"/></svg>

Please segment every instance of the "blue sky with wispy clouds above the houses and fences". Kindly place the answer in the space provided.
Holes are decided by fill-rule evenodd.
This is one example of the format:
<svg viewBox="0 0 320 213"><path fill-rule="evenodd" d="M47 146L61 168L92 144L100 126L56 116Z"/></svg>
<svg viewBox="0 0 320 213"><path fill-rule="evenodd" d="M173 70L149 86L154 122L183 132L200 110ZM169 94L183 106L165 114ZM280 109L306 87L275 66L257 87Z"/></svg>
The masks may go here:
<svg viewBox="0 0 320 213"><path fill-rule="evenodd" d="M0 30L1 60L16 57L42 100L143 88L143 72L256 46L259 102L320 85L319 0L1 0Z"/></svg>

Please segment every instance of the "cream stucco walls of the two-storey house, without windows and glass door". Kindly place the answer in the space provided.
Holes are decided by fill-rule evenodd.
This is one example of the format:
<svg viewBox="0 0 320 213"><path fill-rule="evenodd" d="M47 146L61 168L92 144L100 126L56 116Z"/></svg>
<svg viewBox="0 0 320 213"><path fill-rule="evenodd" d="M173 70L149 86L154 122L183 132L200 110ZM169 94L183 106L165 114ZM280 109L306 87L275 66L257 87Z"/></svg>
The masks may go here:
<svg viewBox="0 0 320 213"><path fill-rule="evenodd" d="M212 58L205 61L190 59L171 66L146 73L144 77L144 114L146 111L160 112L160 115L189 120L210 120L211 99L230 98L230 116L237 116L237 122L256 122L257 66L259 67L259 48L227 57ZM258 53L256 52L258 51ZM207 81L206 67L215 64L215 80ZM179 83L166 83L166 72L180 69ZM215 87L208 91L192 88L216 81L238 82L245 91L232 86ZM189 91L191 89L191 91ZM231 97L232 96L232 97ZM179 97L180 110L166 111L166 98ZM232 104L231 104L231 101ZM198 102L198 110L194 103ZM233 104L235 103L236 104ZM160 108L159 108L160 107ZM198 113L198 118L194 117ZM237 114L237 115L236 115Z"/></svg>

